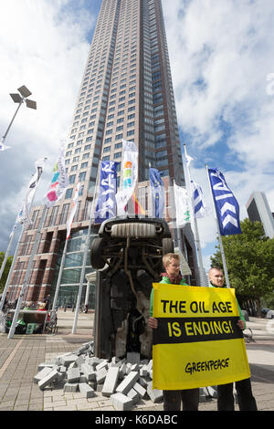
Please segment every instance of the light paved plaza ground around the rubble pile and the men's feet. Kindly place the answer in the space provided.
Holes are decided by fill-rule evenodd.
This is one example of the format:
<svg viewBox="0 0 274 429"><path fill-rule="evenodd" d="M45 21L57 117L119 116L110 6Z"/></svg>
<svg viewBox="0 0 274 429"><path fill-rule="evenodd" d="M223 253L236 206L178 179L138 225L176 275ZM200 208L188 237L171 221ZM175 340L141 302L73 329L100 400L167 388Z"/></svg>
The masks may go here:
<svg viewBox="0 0 274 429"><path fill-rule="evenodd" d="M71 334L74 313L58 312L58 334L15 335L8 340L0 334L0 411L114 411L109 398L85 399L80 393L64 393L47 388L41 392L33 382L37 366L59 354L75 351L80 344L92 340L93 314L79 314L78 330ZM256 342L247 344L252 373L253 392L258 410L274 410L274 319L251 318ZM202 411L215 411L216 399L200 403ZM135 411L162 411L163 404L142 401ZM237 406L236 406L237 410Z"/></svg>

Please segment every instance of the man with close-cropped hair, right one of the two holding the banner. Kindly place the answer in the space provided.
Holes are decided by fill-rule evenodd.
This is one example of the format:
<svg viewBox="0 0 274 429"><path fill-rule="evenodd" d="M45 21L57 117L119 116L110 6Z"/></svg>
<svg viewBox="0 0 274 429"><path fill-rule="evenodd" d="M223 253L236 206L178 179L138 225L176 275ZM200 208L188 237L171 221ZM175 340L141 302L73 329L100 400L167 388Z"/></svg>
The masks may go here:
<svg viewBox="0 0 274 429"><path fill-rule="evenodd" d="M224 273L219 267L212 267L208 272L208 278L211 288L223 288L224 286ZM246 329L246 321L239 308L239 318L237 326L241 330ZM257 411L257 403L252 394L250 378L240 380L235 383L237 390L238 406L240 411ZM234 411L234 396L233 396L233 382L227 384L220 384L217 386L217 407L218 411Z"/></svg>

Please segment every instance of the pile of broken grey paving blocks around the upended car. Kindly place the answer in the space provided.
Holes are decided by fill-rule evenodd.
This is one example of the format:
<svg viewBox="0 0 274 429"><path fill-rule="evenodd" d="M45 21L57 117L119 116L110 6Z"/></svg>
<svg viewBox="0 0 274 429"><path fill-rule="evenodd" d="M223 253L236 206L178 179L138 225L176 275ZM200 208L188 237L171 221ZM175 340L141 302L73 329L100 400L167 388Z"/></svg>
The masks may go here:
<svg viewBox="0 0 274 429"><path fill-rule="evenodd" d="M153 389L153 360L141 360L137 352L128 352L124 359L99 359L94 356L93 341L58 356L54 362L40 363L33 382L41 390L81 392L85 398L100 392L111 398L117 411L132 410L142 399L163 402L163 391ZM200 389L200 402L213 397L215 391L210 389Z"/></svg>

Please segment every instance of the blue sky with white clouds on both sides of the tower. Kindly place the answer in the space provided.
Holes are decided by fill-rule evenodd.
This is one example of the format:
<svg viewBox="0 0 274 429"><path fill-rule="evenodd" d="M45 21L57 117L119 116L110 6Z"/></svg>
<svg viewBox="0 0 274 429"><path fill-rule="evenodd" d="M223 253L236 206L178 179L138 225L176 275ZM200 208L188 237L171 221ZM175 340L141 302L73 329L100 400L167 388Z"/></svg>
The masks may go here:
<svg viewBox="0 0 274 429"><path fill-rule="evenodd" d="M162 0L182 149L191 178L211 205L205 163L226 177L241 220L254 191L274 212L274 3L272 0ZM16 11L16 13L15 13ZM47 157L35 204L47 191L59 141L68 139L100 0L9 0L0 4L0 132L26 85L0 152L0 251L5 251L35 162ZM215 253L214 216L198 219L204 267Z"/></svg>

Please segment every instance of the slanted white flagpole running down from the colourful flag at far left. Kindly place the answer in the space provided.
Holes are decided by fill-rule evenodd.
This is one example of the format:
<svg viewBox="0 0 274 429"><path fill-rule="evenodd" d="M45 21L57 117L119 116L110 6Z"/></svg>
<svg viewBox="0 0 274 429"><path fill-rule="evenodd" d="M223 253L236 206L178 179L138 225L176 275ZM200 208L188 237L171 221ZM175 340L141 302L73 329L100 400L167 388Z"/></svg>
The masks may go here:
<svg viewBox="0 0 274 429"><path fill-rule="evenodd" d="M26 268L26 275L25 275L24 283L23 283L23 285L21 287L21 292L20 292L20 295L19 295L19 298L18 298L18 301L17 301L16 311L15 311L15 314L14 314L14 319L12 321L12 325L11 325L10 330L8 332L8 336L7 336L8 339L12 339L13 338L15 330L16 330L16 321L17 321L17 318L18 318L18 315L19 315L19 312L20 312L20 309L21 309L21 304L22 304L23 297L24 297L25 292L26 292L27 280L28 280L28 277L29 277L29 274L30 274L30 270L31 270L33 261L34 261L34 257L37 254L37 249L38 249L39 241L40 241L40 237L41 237L41 229L42 229L42 226L44 225L46 213L47 213L47 206L44 205L43 212L42 212L42 215L41 215L41 219L40 219L40 222L39 222L39 225L38 225L38 228L37 228L37 233L35 235L34 244L32 246L31 255L29 256L29 260L28 260L28 264L27 264L27 268Z"/></svg>

